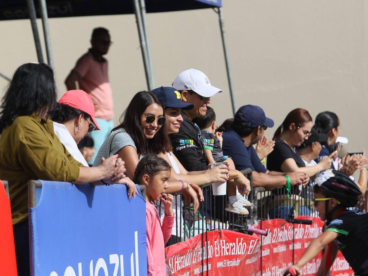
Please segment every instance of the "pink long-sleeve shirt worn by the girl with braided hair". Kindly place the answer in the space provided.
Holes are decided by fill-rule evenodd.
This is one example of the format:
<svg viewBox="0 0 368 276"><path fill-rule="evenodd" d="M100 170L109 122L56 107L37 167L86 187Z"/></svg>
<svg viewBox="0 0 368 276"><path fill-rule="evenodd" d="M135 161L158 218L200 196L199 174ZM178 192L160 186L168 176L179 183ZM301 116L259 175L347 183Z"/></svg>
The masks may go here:
<svg viewBox="0 0 368 276"><path fill-rule="evenodd" d="M162 226L154 204L146 202L147 273L148 276L166 275L165 244L171 237L174 216L166 216Z"/></svg>

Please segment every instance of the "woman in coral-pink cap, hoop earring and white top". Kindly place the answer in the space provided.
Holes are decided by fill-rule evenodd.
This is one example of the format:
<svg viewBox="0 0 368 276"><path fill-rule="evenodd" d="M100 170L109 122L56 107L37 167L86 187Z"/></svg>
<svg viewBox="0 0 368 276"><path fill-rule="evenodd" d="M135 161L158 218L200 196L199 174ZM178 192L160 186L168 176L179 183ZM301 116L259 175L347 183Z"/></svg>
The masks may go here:
<svg viewBox="0 0 368 276"><path fill-rule="evenodd" d="M60 98L51 118L60 142L75 160L88 167L77 145L93 130L100 130L91 97L83 90L67 91Z"/></svg>

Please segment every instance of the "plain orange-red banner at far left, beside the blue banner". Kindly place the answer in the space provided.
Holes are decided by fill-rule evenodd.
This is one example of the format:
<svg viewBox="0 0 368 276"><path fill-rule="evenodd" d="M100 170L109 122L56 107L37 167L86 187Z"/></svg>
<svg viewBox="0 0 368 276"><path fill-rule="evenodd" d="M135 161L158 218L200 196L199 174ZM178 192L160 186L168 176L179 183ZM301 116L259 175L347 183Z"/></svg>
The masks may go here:
<svg viewBox="0 0 368 276"><path fill-rule="evenodd" d="M10 200L0 180L0 275L17 275Z"/></svg>

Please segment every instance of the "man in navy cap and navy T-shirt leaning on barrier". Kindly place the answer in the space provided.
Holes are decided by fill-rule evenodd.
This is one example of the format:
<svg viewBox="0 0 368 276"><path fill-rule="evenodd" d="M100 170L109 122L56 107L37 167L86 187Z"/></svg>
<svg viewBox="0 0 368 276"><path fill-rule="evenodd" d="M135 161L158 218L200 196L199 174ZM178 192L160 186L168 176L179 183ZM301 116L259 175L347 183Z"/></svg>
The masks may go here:
<svg viewBox="0 0 368 276"><path fill-rule="evenodd" d="M287 178L290 179L291 185L300 185L304 183L306 177L304 173L285 174L267 170L253 147L262 139L265 130L273 125L273 120L266 117L261 107L256 105L240 107L235 113L231 127L228 127L222 135L223 153L231 156L237 170L252 169L254 187L282 187L287 184Z"/></svg>

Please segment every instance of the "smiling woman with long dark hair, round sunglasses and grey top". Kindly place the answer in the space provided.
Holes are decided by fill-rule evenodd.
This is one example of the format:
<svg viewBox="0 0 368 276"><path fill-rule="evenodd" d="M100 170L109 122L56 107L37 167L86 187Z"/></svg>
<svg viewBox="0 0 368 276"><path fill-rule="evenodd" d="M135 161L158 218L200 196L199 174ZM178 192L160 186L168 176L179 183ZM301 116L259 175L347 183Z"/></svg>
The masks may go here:
<svg viewBox="0 0 368 276"><path fill-rule="evenodd" d="M155 94L138 92L121 115L120 121L103 142L93 166L98 166L101 158L118 154L125 161L127 176L132 179L139 160L145 155L160 155L171 151L171 143L166 133L164 106ZM197 194L190 185L185 185L183 189L180 181L169 181L166 192L184 192L185 196L193 199L194 209L197 210Z"/></svg>

